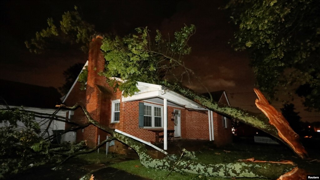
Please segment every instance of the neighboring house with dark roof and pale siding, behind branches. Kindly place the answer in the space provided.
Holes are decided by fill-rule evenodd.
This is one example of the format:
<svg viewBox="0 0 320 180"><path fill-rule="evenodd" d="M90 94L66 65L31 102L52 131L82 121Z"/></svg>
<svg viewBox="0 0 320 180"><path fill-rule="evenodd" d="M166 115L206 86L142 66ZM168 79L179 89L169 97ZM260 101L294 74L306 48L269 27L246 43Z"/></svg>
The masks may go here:
<svg viewBox="0 0 320 180"><path fill-rule="evenodd" d="M0 79L0 108L19 108L28 111L34 111L44 114L56 113L57 116L68 117L68 110L59 110L55 105L61 104L60 93L53 87L43 87L30 85L20 82L13 82ZM36 121L40 124L42 130L46 129L50 120L48 115L46 118L35 117ZM22 124L18 123L19 126ZM6 126L1 123L0 127ZM57 130L64 130L65 123L53 119L49 127L49 135ZM45 135L47 136L47 135Z"/></svg>

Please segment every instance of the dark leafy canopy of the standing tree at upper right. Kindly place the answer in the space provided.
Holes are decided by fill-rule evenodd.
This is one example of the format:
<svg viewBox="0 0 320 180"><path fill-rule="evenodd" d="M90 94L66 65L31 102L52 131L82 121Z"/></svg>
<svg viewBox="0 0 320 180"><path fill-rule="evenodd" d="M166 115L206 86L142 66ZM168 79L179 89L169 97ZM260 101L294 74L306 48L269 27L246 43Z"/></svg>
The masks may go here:
<svg viewBox="0 0 320 180"><path fill-rule="evenodd" d="M233 46L249 52L258 87L275 98L279 91L295 92L319 111L320 4L231 0L226 9L238 27Z"/></svg>

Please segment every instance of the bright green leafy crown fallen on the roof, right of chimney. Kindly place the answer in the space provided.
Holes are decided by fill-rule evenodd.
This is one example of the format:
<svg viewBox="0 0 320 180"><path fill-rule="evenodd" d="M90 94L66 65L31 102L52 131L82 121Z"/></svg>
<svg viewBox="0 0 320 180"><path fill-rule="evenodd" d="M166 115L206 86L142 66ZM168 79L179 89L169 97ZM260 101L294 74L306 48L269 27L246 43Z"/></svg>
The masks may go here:
<svg viewBox="0 0 320 180"><path fill-rule="evenodd" d="M152 37L148 28L137 28L137 34L126 37L105 37L101 45L106 60L102 75L107 78L117 77L123 81L111 79L115 88L123 91L124 96L133 95L139 90L137 81L159 84L162 80L183 78L192 70L183 66L183 55L191 52L188 39L195 33L195 26L185 26L174 33L172 42L162 38L159 30ZM176 75L177 70L184 70Z"/></svg>

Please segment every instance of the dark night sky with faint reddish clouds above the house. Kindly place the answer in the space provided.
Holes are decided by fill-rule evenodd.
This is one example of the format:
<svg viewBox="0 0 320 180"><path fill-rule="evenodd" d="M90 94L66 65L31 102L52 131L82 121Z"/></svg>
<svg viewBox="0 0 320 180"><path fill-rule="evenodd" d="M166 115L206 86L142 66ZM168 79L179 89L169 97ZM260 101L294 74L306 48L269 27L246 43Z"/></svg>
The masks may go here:
<svg viewBox="0 0 320 180"><path fill-rule="evenodd" d="M46 20L56 22L74 6L84 20L95 25L98 32L119 36L133 33L137 27L159 29L163 35L194 24L196 34L189 45L192 53L184 58L209 91L226 90L230 104L254 112L254 74L245 52L234 52L228 44L236 29L228 13L219 10L227 1L1 1L1 61L0 79L39 86L59 87L64 83L63 71L87 60L87 55L75 49L51 50L41 55L28 52L24 41L36 31L46 28ZM190 87L200 93L205 90L194 81ZM274 102L276 108L282 103ZM303 111L296 99L295 107L303 121L319 121L319 113Z"/></svg>

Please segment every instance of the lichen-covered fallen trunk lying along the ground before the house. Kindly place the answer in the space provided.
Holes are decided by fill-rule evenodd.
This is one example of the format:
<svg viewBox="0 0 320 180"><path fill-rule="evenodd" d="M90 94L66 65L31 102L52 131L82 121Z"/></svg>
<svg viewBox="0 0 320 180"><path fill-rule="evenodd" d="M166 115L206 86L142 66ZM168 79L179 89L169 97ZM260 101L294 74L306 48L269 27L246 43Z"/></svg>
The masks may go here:
<svg viewBox="0 0 320 180"><path fill-rule="evenodd" d="M87 116L90 123L108 132L120 142L127 144L134 149L140 158L140 162L147 168L156 168L168 171L187 172L204 176L216 177L260 177L268 179L276 179L280 175L290 172L296 166L291 161L286 162L256 162L256 161L239 161L227 164L202 164L191 160L168 160L168 159L153 159L149 156L145 145L133 140L132 138L115 132L114 129L101 125L99 122L91 118L89 112L83 105L75 105L68 107L75 109L80 106ZM272 173L271 173L272 172ZM89 176L88 176L89 177Z"/></svg>

